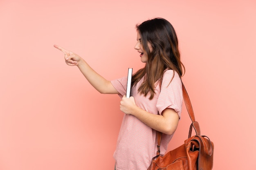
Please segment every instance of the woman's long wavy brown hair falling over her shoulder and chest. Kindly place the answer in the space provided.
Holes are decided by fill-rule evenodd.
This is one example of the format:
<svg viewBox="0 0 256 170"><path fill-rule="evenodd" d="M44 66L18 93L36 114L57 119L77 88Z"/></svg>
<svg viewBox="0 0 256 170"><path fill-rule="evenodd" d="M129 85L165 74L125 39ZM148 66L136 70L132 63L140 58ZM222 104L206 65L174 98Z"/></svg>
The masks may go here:
<svg viewBox="0 0 256 170"><path fill-rule="evenodd" d="M144 82L138 91L144 96L150 93L149 99L153 99L155 82L157 80L162 82L166 69L177 72L180 77L183 75L182 68L184 68L184 65L180 60L178 39L171 23L163 18L144 21L141 24L137 24L136 28L141 35L142 46L144 53L148 55L148 61L144 68L141 68L132 76L132 86L137 84L144 76ZM151 52L148 42L152 46Z"/></svg>

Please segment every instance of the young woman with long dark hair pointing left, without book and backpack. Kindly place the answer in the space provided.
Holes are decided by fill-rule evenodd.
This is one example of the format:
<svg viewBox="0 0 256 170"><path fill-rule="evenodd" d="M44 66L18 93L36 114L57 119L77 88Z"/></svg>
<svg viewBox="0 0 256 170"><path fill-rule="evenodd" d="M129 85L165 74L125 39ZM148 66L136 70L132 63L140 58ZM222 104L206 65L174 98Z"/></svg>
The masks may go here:
<svg viewBox="0 0 256 170"><path fill-rule="evenodd" d="M126 98L127 76L108 81L79 55L54 45L65 53L65 62L78 66L100 93L118 94L124 112L114 153L116 170L146 170L157 152L157 131L163 132L161 155L177 128L182 109L183 64L173 26L163 18L137 25L137 43L145 67L132 76L131 97Z"/></svg>

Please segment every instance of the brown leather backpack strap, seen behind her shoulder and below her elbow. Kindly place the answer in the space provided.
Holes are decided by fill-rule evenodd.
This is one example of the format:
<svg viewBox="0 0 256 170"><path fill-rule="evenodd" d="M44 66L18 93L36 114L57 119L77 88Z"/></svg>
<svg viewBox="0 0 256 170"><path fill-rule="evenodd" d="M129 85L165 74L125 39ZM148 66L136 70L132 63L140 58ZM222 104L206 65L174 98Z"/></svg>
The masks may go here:
<svg viewBox="0 0 256 170"><path fill-rule="evenodd" d="M183 82L181 82L181 83L182 83L182 93L183 93L184 103L186 105L186 110L188 110L189 117L192 121L192 124L190 125L190 128L189 128L189 138L190 138L191 134L192 134L192 127L195 129L196 135L200 135L201 132L200 132L200 127L199 127L198 122L195 121L195 115L194 115L194 111L193 111L193 108L192 108L192 105L191 105L191 102L189 99L189 94L187 93ZM162 138L162 132L157 131L157 148L158 148L157 155L160 154L161 138Z"/></svg>

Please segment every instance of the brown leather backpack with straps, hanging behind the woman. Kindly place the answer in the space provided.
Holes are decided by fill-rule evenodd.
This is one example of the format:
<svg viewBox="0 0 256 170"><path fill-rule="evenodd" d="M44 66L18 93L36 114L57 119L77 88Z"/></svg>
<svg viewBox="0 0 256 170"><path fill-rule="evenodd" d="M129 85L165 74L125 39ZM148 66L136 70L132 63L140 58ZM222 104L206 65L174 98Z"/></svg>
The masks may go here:
<svg viewBox="0 0 256 170"><path fill-rule="evenodd" d="M207 136L201 136L200 127L195 121L195 115L182 83L183 98L192 124L189 128L189 137L184 144L160 156L162 133L157 132L157 155L153 157L148 170L211 170L213 168L213 142ZM196 135L191 137L192 127Z"/></svg>

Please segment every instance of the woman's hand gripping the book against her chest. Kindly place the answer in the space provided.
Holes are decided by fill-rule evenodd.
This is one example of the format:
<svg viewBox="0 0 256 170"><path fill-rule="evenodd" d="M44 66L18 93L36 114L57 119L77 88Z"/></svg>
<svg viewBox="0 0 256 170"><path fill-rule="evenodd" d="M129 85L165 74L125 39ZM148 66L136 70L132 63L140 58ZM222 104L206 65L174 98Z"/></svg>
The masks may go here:
<svg viewBox="0 0 256 170"><path fill-rule="evenodd" d="M120 102L120 110L127 115L132 115L135 107L137 106L134 97L131 96L130 98L127 98L126 95L124 95Z"/></svg>

